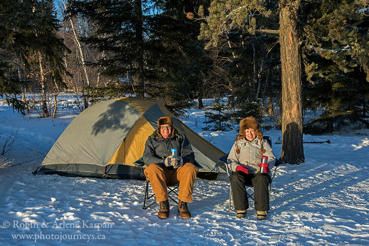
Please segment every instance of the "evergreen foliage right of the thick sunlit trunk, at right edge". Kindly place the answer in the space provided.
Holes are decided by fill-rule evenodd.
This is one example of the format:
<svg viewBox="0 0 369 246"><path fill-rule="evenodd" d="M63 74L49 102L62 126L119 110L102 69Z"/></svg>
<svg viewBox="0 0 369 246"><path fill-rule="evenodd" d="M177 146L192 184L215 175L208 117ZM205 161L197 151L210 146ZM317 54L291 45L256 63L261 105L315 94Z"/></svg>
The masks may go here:
<svg viewBox="0 0 369 246"><path fill-rule="evenodd" d="M323 111L305 130L322 133L353 123L368 126L369 11L354 0L322 0L306 4L304 12L306 104Z"/></svg>

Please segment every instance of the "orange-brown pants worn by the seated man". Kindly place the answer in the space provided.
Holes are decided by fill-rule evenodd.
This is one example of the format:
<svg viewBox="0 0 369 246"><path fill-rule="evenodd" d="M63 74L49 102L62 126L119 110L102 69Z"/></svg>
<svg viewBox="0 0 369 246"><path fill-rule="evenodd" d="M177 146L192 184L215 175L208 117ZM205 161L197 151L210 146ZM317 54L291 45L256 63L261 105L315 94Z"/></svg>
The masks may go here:
<svg viewBox="0 0 369 246"><path fill-rule="evenodd" d="M192 163L185 163L176 169L167 169L159 164L152 163L145 170L145 176L153 187L156 202L169 198L167 185L180 183L178 199L183 202L192 202L192 190L199 168Z"/></svg>

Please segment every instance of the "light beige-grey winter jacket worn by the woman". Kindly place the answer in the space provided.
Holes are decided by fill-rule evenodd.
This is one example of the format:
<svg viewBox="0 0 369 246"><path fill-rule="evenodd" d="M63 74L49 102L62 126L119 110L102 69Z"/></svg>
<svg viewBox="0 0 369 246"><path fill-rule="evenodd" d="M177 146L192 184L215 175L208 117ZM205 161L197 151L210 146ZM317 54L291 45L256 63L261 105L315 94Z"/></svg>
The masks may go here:
<svg viewBox="0 0 369 246"><path fill-rule="evenodd" d="M272 169L272 167L274 167L274 164L276 163L276 157L273 154L272 147L265 139L261 140L261 143L263 148L265 149L264 155L268 156L269 169ZM238 146L238 149L240 150L240 154L236 153L236 144ZM250 174L255 174L259 172L258 165L261 162L261 156L262 154L260 153L259 138L256 137L251 142L248 141L246 138L242 138L233 144L227 158L227 164L233 172L236 171L236 167L238 165L245 165L248 168L248 172Z"/></svg>

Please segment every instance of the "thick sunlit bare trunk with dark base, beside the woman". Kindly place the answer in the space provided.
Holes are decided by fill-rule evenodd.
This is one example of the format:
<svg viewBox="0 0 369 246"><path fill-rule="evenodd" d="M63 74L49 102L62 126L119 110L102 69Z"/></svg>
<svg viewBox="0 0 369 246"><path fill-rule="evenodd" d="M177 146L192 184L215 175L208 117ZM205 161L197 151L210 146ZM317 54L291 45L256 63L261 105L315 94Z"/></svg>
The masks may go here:
<svg viewBox="0 0 369 246"><path fill-rule="evenodd" d="M290 164L305 161L303 146L301 55L297 20L301 0L280 0L279 43L282 80L282 153Z"/></svg>

